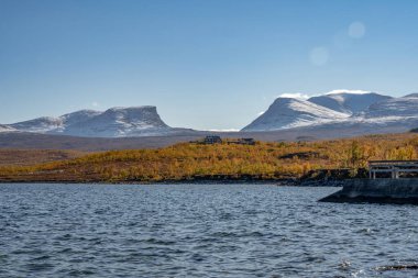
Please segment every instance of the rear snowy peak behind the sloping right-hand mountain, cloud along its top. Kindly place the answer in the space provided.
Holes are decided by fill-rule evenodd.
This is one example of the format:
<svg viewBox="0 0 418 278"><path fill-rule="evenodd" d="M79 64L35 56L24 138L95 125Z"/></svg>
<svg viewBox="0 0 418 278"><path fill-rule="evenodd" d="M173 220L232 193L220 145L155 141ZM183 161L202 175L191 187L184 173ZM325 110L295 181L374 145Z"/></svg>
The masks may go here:
<svg viewBox="0 0 418 278"><path fill-rule="evenodd" d="M312 97L308 100L318 105L352 115L364 111L376 102L387 99L392 99L392 97L382 96L375 92L352 93L342 91Z"/></svg>

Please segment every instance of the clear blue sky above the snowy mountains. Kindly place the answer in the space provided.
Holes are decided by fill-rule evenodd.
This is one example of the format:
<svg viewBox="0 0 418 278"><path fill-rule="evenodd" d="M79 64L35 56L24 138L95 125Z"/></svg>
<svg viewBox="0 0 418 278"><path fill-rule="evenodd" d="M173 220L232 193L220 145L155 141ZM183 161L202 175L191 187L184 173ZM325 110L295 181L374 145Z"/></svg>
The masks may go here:
<svg viewBox="0 0 418 278"><path fill-rule="evenodd" d="M156 105L241 129L280 93L418 91L418 1L0 0L0 123Z"/></svg>

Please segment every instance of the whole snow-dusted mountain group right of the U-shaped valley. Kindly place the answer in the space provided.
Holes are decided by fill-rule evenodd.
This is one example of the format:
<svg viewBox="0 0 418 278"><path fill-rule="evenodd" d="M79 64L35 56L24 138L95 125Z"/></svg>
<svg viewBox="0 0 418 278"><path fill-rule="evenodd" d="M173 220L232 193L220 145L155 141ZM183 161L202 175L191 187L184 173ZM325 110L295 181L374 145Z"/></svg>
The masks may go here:
<svg viewBox="0 0 418 278"><path fill-rule="evenodd" d="M308 100L277 98L268 110L242 131L358 129L384 126L407 131L418 125L418 93L392 98L375 92L338 91ZM369 132L370 133L370 132Z"/></svg>

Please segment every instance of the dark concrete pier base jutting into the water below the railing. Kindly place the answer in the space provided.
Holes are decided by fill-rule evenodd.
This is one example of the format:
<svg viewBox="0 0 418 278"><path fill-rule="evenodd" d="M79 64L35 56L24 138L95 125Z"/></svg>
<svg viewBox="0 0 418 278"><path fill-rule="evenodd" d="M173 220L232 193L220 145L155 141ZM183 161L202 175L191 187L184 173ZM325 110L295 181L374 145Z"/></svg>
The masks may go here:
<svg viewBox="0 0 418 278"><path fill-rule="evenodd" d="M418 179L359 179L320 202L418 204Z"/></svg>

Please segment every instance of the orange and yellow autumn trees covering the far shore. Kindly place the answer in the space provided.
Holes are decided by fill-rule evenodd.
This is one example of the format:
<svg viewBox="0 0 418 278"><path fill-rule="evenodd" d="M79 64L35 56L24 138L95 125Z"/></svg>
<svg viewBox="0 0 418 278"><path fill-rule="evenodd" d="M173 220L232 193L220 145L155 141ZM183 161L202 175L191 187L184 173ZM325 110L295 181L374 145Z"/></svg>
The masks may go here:
<svg viewBox="0 0 418 278"><path fill-rule="evenodd" d="M8 151L10 155L13 152ZM22 151L23 152L23 151ZM36 151L43 157L51 151ZM55 154L55 153L54 153ZM55 154L57 156L57 154ZM161 182L199 179L278 180L344 169L364 173L372 159L417 159L414 133L255 145L179 143L158 149L72 153L31 165L0 164L0 181ZM32 157L33 160L33 157Z"/></svg>

